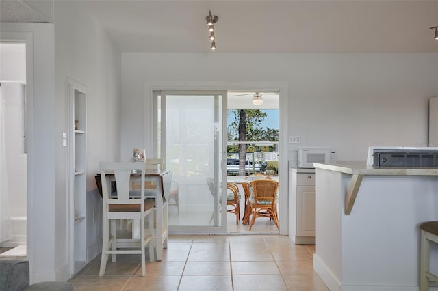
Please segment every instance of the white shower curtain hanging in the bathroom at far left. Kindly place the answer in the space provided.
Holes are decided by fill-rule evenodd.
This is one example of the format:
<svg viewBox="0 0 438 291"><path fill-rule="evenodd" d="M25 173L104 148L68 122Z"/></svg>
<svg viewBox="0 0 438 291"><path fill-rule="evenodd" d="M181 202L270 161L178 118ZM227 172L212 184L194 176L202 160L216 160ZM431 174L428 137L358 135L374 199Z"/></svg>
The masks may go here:
<svg viewBox="0 0 438 291"><path fill-rule="evenodd" d="M0 243L12 239L9 217L8 172L6 171L5 102L0 84Z"/></svg>

